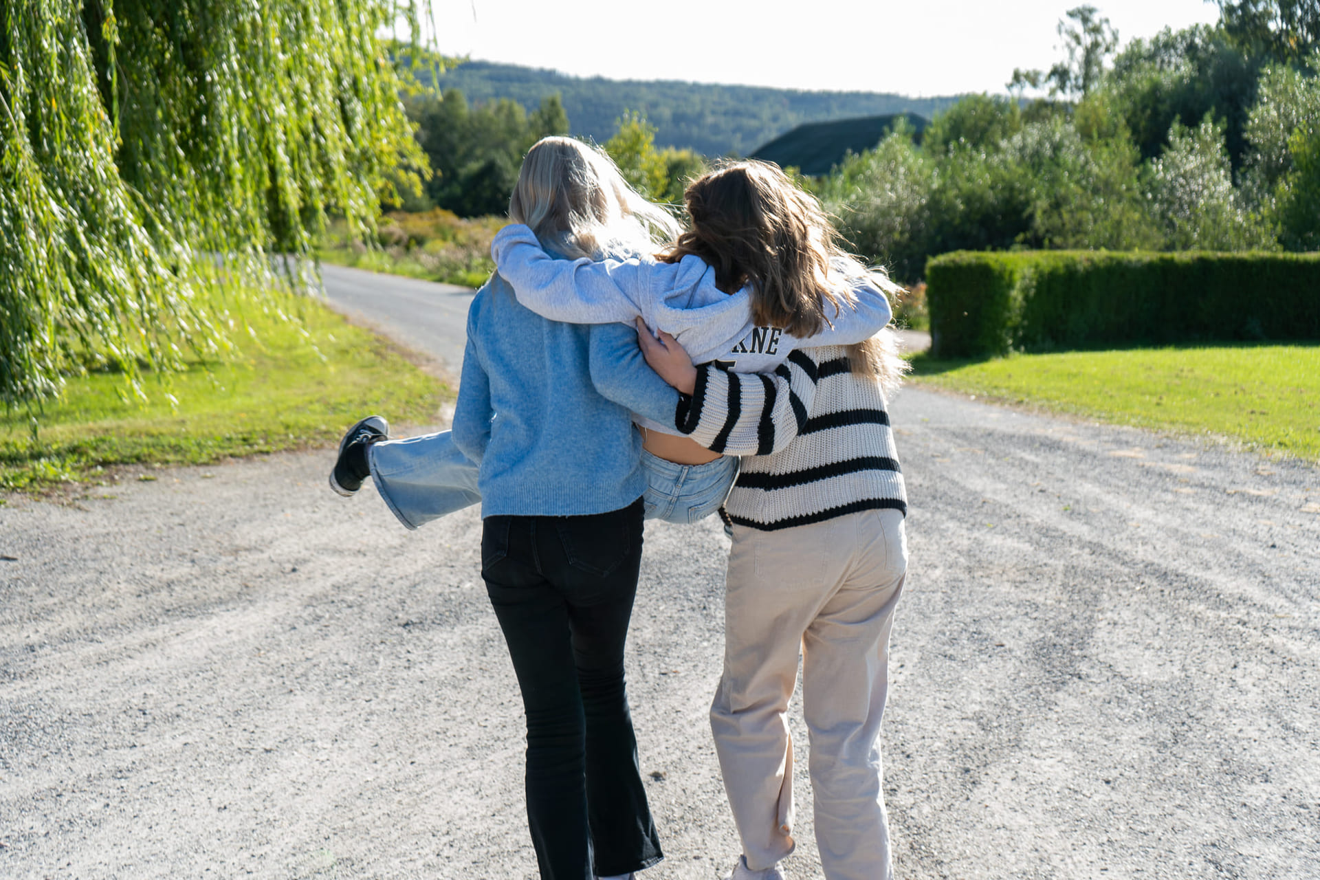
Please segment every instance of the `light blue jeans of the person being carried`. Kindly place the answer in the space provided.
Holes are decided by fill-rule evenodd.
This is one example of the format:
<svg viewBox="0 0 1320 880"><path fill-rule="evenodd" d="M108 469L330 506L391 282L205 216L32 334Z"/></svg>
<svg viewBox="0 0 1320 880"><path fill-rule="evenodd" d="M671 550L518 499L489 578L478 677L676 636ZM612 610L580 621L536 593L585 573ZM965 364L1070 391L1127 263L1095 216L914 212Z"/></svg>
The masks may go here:
<svg viewBox="0 0 1320 880"><path fill-rule="evenodd" d="M409 529L482 500L478 467L454 446L449 431L372 443L367 464L385 507ZM738 476L738 458L675 464L642 450L642 468L647 474L645 517L686 524L725 503Z"/></svg>

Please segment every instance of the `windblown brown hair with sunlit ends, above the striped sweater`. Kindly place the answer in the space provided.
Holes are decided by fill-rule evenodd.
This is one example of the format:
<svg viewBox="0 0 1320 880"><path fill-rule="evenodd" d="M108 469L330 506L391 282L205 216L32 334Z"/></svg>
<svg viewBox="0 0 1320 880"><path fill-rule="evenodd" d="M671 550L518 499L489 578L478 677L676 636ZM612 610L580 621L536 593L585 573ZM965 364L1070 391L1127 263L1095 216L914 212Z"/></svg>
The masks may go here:
<svg viewBox="0 0 1320 880"><path fill-rule="evenodd" d="M689 253L715 269L725 293L751 288L752 319L807 338L851 303L850 282L866 280L891 299L900 288L883 269L866 268L840 245L816 198L777 165L725 162L688 186L684 202L692 228L661 260ZM911 367L898 355L890 330L849 347L854 372L873 373L892 389Z"/></svg>

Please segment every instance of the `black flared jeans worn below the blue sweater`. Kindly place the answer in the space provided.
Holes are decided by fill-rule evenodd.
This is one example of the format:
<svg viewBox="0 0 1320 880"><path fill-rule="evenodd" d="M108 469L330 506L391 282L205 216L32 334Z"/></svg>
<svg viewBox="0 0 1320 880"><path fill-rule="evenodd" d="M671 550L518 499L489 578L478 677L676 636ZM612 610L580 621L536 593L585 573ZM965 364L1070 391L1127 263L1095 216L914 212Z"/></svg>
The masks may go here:
<svg viewBox="0 0 1320 880"><path fill-rule="evenodd" d="M544 880L663 858L623 682L640 563L640 499L594 516L483 522L482 578L527 710L527 815Z"/></svg>

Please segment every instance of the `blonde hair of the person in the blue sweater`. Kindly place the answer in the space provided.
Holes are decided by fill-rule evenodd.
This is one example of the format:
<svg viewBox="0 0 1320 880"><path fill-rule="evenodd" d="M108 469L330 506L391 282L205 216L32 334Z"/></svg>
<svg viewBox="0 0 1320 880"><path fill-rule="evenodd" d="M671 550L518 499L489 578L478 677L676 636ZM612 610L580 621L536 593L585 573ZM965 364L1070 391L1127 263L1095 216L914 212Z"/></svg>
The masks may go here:
<svg viewBox="0 0 1320 880"><path fill-rule="evenodd" d="M508 215L566 257L640 256L678 235L669 214L642 198L602 150L543 137L523 158Z"/></svg>

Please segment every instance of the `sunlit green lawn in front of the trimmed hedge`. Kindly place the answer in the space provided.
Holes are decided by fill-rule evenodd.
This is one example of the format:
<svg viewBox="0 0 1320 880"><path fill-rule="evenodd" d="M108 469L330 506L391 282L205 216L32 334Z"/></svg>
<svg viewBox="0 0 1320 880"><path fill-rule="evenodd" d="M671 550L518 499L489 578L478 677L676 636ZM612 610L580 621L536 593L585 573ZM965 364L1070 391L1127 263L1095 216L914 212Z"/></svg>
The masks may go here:
<svg viewBox="0 0 1320 880"><path fill-rule="evenodd" d="M920 384L1320 460L1320 344L913 360Z"/></svg>

